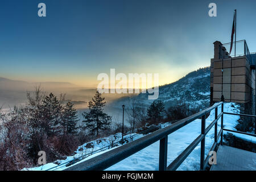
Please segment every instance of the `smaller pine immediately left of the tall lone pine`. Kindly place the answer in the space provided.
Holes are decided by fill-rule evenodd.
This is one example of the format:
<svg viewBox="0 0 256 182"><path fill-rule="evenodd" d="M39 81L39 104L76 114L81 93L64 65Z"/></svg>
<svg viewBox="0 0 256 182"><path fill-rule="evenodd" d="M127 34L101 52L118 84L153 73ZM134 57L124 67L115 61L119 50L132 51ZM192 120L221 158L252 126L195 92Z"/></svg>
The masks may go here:
<svg viewBox="0 0 256 182"><path fill-rule="evenodd" d="M77 110L73 108L73 103L68 102L63 109L63 126L64 133L76 134L77 133Z"/></svg>

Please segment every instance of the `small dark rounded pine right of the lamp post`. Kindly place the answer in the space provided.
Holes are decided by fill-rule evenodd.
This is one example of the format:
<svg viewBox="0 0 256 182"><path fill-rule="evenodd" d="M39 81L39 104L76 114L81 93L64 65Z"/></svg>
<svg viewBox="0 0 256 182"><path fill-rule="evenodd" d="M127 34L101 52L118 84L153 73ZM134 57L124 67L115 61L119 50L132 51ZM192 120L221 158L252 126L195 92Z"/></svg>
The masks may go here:
<svg viewBox="0 0 256 182"><path fill-rule="evenodd" d="M147 109L148 119L154 123L160 122L164 116L164 103L163 101L154 101Z"/></svg>

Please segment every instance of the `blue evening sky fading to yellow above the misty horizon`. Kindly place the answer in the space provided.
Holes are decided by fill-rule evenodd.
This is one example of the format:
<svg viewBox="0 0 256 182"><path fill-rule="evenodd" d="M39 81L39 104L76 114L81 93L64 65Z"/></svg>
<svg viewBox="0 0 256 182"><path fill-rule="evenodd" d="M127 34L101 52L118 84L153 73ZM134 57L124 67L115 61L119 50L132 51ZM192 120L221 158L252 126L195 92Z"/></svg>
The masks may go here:
<svg viewBox="0 0 256 182"><path fill-rule="evenodd" d="M46 17L38 4L46 4ZM209 3L217 16L210 17ZM0 77L97 86L100 73L159 73L159 84L210 65L213 42L256 51L256 1L2 0Z"/></svg>

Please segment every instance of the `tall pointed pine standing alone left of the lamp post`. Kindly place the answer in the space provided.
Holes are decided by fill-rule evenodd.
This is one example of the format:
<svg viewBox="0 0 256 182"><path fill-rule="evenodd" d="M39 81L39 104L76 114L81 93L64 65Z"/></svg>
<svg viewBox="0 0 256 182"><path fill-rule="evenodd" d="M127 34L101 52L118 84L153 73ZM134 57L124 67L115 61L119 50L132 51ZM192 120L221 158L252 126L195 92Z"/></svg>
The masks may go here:
<svg viewBox="0 0 256 182"><path fill-rule="evenodd" d="M96 136L100 130L106 130L110 126L111 117L104 113L103 107L106 102L105 98L101 97L101 93L96 90L96 95L92 98L92 101L89 102L89 113L83 113L83 117L85 118L85 128L88 128L90 133L94 134L96 132Z"/></svg>

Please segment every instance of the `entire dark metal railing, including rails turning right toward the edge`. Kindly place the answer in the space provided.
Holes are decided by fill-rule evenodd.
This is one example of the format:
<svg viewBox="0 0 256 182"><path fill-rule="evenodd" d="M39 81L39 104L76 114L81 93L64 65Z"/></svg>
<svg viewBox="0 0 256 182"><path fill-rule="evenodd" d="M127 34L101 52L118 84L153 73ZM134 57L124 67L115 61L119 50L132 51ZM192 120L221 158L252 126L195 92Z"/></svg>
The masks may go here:
<svg viewBox="0 0 256 182"><path fill-rule="evenodd" d="M218 106L221 106L221 113L218 114ZM214 120L205 128L205 117L210 111L215 110ZM256 137L256 134L244 133L241 131L233 131L224 128L224 114L232 114L239 115L243 117L253 117L256 118L256 115L248 115L248 114L236 114L236 113L225 113L224 112L224 102L219 102L208 109L200 111L199 113L193 114L190 117L185 119L181 119L180 121L167 126L163 129L157 130L154 133L146 135L145 137L134 140L133 142L127 143L123 146L114 148L113 150L107 151L104 154L98 155L94 158L85 160L79 164L75 164L71 167L66 168L65 170L104 170L108 167L113 166L114 164L120 162L123 159L135 154L136 152L150 146L152 143L160 140L159 145L159 170L176 170L181 163L187 158L189 154L195 149L195 147L201 142L201 155L200 155L200 170L204 170L208 166L208 161L210 155L207 155L205 158L205 136L214 126L214 143L209 151L213 151L216 149L218 144L218 140L220 139L220 144L223 143L223 131L229 131L234 133L240 133L245 135L250 135ZM168 135L174 133L174 131L179 130L181 127L188 125L195 121L195 119L201 118L201 134L193 140L191 144L177 158L172 161L170 165L167 166L167 144L168 144ZM218 127L218 119L221 118L221 129L217 131Z"/></svg>

